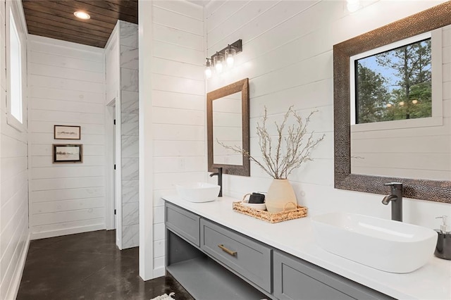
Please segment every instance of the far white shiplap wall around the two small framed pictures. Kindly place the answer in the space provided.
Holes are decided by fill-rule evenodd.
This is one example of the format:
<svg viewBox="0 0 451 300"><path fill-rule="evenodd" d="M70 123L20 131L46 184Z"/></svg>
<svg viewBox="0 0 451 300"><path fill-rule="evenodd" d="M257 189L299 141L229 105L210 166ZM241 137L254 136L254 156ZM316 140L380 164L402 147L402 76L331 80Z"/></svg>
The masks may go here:
<svg viewBox="0 0 451 300"><path fill-rule="evenodd" d="M105 228L103 49L30 36L32 239ZM80 125L81 140L54 139ZM52 163L52 144L83 144L82 163Z"/></svg>

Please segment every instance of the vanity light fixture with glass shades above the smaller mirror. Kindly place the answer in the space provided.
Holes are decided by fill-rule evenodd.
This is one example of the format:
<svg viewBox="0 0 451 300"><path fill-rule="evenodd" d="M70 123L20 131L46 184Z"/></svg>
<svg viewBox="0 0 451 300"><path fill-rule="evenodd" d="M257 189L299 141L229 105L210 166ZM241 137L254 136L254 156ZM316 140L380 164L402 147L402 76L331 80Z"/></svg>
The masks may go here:
<svg viewBox="0 0 451 300"><path fill-rule="evenodd" d="M205 76L210 78L212 75L211 68L216 70L216 73L220 74L227 68L233 68L235 63L235 55L242 51L242 40L238 39L232 44L228 44L226 48L213 54L211 58L206 58Z"/></svg>

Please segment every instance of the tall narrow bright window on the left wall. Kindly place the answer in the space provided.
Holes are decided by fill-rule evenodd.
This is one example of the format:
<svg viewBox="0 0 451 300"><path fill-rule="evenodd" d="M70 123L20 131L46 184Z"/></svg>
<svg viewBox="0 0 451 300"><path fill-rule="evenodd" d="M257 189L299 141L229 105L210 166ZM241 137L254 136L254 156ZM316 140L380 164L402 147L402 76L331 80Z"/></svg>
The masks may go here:
<svg viewBox="0 0 451 300"><path fill-rule="evenodd" d="M23 86L22 86L22 45L14 19L13 11L9 11L9 30L7 40L7 76L8 76L8 124L18 128L23 124ZM13 119L11 119L13 117ZM15 119L15 120L14 120ZM20 127L20 126L19 126Z"/></svg>

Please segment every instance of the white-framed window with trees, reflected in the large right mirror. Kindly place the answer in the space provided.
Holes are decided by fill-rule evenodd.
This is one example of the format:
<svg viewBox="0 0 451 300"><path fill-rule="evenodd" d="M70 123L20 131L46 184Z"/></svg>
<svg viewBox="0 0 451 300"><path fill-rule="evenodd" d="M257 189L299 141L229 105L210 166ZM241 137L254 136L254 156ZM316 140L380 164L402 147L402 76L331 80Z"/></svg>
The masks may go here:
<svg viewBox="0 0 451 300"><path fill-rule="evenodd" d="M441 56L441 29L352 56L352 130L443 125Z"/></svg>

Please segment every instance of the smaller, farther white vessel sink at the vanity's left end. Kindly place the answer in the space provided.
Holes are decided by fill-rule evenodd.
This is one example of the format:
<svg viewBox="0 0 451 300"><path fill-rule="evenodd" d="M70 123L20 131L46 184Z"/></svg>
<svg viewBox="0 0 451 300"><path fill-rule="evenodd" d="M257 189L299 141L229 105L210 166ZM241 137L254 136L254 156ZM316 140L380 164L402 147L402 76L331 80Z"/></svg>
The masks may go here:
<svg viewBox="0 0 451 300"><path fill-rule="evenodd" d="M211 185L206 182L187 182L175 185L178 196L190 202L209 202L218 198L219 185Z"/></svg>

